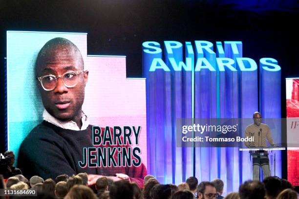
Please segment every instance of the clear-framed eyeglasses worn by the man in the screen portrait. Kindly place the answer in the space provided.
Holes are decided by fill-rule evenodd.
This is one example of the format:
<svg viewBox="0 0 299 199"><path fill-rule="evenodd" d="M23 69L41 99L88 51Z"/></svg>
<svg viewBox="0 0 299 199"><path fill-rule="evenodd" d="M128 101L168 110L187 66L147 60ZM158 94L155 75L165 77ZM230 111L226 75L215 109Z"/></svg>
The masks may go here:
<svg viewBox="0 0 299 199"><path fill-rule="evenodd" d="M57 79L62 78L64 85L68 88L72 88L77 85L78 83L78 75L84 72L81 71L68 71L63 75L45 75L42 77L37 78L45 91L52 91L56 88Z"/></svg>

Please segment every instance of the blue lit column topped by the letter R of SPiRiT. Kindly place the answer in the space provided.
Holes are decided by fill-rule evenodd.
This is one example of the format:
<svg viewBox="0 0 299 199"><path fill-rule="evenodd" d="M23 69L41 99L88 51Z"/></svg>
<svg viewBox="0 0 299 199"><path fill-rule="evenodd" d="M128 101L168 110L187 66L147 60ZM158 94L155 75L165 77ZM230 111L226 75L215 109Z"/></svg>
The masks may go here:
<svg viewBox="0 0 299 199"><path fill-rule="evenodd" d="M194 118L217 116L217 79L213 43L195 41ZM217 157L214 148L195 148L195 177L208 180L217 176ZM212 164L213 162L213 164Z"/></svg>

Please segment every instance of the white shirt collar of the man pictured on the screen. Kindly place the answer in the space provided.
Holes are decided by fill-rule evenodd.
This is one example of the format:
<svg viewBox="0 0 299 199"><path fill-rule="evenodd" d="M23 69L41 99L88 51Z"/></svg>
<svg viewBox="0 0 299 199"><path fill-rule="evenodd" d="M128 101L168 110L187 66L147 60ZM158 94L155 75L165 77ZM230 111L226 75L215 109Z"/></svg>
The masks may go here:
<svg viewBox="0 0 299 199"><path fill-rule="evenodd" d="M85 130L89 125L89 119L82 111L82 127L79 129L76 122L70 120L70 121L61 121L59 119L54 118L51 116L45 109L43 110L43 120L46 120L47 122L50 122L58 127L64 128L64 129L70 129L75 131Z"/></svg>

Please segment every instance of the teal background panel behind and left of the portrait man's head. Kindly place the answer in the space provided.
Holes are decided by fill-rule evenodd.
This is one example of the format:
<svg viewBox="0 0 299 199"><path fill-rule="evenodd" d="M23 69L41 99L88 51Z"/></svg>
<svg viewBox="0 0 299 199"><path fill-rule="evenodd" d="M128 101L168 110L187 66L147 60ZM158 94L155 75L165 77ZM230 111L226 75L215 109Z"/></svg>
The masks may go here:
<svg viewBox="0 0 299 199"><path fill-rule="evenodd" d="M83 59L86 59L85 33L7 31L8 150L14 151L16 158L22 140L43 120L43 103L34 65L43 45L56 37L72 41L80 49Z"/></svg>

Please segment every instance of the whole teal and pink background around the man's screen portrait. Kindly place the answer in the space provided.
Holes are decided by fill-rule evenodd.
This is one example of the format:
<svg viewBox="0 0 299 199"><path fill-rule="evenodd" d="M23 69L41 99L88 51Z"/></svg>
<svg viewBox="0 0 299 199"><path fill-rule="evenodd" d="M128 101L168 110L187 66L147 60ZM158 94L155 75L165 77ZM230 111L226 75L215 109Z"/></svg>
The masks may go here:
<svg viewBox="0 0 299 199"><path fill-rule="evenodd" d="M138 147L147 165L145 79L126 78L126 56L87 56L86 33L7 32L8 149L17 154L21 141L43 120L35 60L43 45L56 37L77 45L89 71L82 109L90 124L141 126Z"/></svg>

